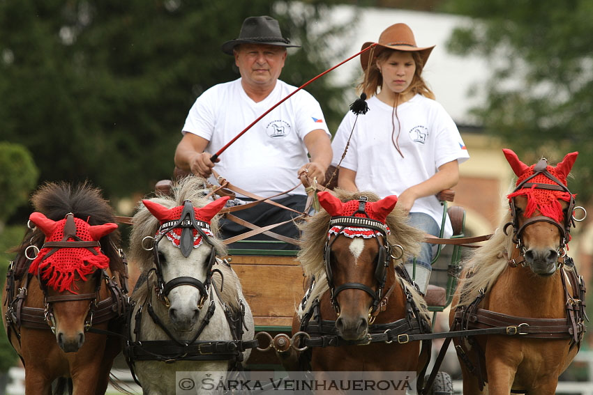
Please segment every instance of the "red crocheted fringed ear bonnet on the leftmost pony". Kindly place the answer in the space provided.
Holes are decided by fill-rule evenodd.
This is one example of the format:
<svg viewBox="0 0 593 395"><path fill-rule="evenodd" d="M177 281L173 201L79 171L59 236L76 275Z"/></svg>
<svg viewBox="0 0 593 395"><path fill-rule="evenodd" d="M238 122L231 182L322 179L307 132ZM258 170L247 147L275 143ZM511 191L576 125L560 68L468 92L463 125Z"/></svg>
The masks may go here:
<svg viewBox="0 0 593 395"><path fill-rule="evenodd" d="M101 252L98 240L117 229L117 224L109 222L91 226L72 214L58 222L52 221L40 212L33 212L29 219L45 234L45 243L72 242L73 247L52 247L43 245L37 257L31 262L29 273L47 281L54 290L76 293L73 283L75 274L87 281L87 275L97 269L109 267L109 258ZM80 247L75 242L97 242L97 247Z"/></svg>

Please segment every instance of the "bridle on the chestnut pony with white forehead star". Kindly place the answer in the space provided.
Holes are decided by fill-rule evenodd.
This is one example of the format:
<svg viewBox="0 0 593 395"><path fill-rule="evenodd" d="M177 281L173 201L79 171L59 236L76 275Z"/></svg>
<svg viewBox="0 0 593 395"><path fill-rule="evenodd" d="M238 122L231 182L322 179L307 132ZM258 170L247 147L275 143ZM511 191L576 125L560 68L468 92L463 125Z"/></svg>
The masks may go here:
<svg viewBox="0 0 593 395"><path fill-rule="evenodd" d="M391 261L391 249L392 247L387 242L387 227L382 222L379 222L375 219L370 219L368 217L354 217L357 212L361 212L366 215L364 210L364 206L366 204L366 196L361 196L359 199L359 209L352 214L352 216L347 217L331 217L329 221L329 229L334 226L340 226L340 230L337 232L335 237L331 237L331 233L328 231L327 240L324 247L324 264L325 264L325 274L327 285L329 286L329 298L333 309L336 311L338 316L340 315L340 305L338 304L338 294L345 289L358 289L364 291L373 297L373 305L369 309L369 317L372 313L377 311L380 301L383 297L383 289L385 288L385 283L387 279L387 268L389 267L389 263ZM375 235L375 240L377 240L377 245L379 247L379 252L377 254L377 264L375 267L375 275L374 279L377 281L377 291L370 288L366 284L360 283L345 283L336 286L333 282L333 272L331 270L331 247L336 240L340 237L340 234L346 227L358 227L358 228L365 228L371 229L379 234ZM382 236L381 238L379 236ZM381 239L381 240L380 240ZM400 246L397 246L401 249Z"/></svg>

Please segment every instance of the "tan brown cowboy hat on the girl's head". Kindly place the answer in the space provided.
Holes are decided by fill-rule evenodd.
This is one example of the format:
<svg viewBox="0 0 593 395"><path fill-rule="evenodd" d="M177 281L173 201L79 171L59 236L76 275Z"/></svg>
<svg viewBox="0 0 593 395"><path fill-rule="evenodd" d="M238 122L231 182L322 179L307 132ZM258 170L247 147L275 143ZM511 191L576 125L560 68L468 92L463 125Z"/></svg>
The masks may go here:
<svg viewBox="0 0 593 395"><path fill-rule="evenodd" d="M369 47L371 44L375 44L375 42L365 42L362 45L361 50ZM371 64L377 61L377 55L379 55L383 49L389 48L397 49L398 51L420 52L423 63L426 65L428 56L434 47L434 45L432 47L418 47L410 26L407 26L405 23L392 24L381 33L381 36L379 36L379 42L377 42L377 45L375 46L375 53L373 54ZM373 52L373 49L371 48L370 50L363 52L360 56L363 70L366 70L368 66L369 52Z"/></svg>

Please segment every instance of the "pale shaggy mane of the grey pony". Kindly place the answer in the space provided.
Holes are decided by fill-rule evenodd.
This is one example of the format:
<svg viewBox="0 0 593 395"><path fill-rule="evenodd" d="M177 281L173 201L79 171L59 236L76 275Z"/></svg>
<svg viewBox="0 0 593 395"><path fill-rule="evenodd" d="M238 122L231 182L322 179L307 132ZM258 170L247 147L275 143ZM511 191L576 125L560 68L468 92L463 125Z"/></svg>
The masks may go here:
<svg viewBox="0 0 593 395"><path fill-rule="evenodd" d="M166 208L183 206L183 201L189 200L194 207L201 208L211 202L211 200L206 198L209 192L204 178L188 176L173 185L172 196L158 195L148 200ZM210 229L214 235L218 235L218 217L220 216L216 215L213 217L210 223ZM142 248L142 239L155 235L160 222L144 207L142 201L140 201L132 219L132 224L132 232L130 233L130 259L139 266L141 272L147 272L153 266L153 251L147 251ZM222 240L208 238L208 242L214 246L216 254L226 254L227 247L223 244Z"/></svg>

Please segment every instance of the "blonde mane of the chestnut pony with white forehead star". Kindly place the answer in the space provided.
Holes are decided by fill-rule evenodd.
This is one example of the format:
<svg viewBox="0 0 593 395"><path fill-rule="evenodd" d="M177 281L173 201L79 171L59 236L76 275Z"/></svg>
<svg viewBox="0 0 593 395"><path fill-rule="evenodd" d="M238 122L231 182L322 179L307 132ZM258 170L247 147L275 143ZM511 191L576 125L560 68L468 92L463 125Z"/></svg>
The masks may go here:
<svg viewBox="0 0 593 395"><path fill-rule="evenodd" d="M346 202L351 200L358 200L361 196L366 196L368 201L378 201L379 196L373 192L347 192L343 189L334 189L333 194ZM325 265L324 265L324 248L327 239L327 231L329 230L330 215L325 210L317 212L313 217L308 218L305 222L299 224L302 231L300 246L301 249L296 256L296 260L301 263L303 272L309 278L315 276L315 286L310 295L308 295L307 303L303 310L297 311L299 316L305 311L308 311L310 304L316 297L320 297L329 288L327 286ZM399 259L393 259L394 265L403 265L407 258L416 256L420 251L420 242L424 238L424 233L419 229L414 228L408 224L407 214L403 210L398 209L398 206L386 218L386 224L391 230L391 234L387 236L389 245L400 245L403 249L403 256ZM399 279L402 284L406 284L410 289L412 297L416 305L421 307L422 313L428 317L426 311L426 303L419 293L416 292L414 286L407 283L403 279Z"/></svg>

